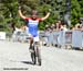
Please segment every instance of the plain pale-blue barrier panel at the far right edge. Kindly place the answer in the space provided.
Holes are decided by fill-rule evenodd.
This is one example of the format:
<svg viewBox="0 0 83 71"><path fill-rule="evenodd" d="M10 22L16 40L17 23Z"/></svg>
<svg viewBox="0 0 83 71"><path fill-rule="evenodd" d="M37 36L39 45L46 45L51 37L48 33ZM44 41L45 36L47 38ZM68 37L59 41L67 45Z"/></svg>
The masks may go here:
<svg viewBox="0 0 83 71"><path fill-rule="evenodd" d="M72 32L72 47L82 49L82 31Z"/></svg>

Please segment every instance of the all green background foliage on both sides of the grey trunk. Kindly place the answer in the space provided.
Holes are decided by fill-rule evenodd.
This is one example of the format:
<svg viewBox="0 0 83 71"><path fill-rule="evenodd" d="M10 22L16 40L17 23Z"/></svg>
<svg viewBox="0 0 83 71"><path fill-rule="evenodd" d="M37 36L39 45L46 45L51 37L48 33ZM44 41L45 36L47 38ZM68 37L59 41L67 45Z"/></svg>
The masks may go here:
<svg viewBox="0 0 83 71"><path fill-rule="evenodd" d="M40 29L43 29L46 24L51 25L58 20L63 20L66 12L66 0L0 0L0 25L6 26L3 31L9 31L10 22L14 22L17 26L25 23L19 16L18 5L22 7L22 12L27 16L30 15L32 9L37 9L41 17L49 9L52 10L50 17L39 25ZM71 0L72 24L76 24L80 17L83 17L83 0Z"/></svg>

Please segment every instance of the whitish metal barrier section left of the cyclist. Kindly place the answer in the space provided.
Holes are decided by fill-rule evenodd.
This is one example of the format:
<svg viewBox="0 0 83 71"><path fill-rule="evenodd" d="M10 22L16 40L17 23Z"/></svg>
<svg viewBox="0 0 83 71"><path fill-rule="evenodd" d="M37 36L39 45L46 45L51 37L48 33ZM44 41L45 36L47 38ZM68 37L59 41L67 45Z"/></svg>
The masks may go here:
<svg viewBox="0 0 83 71"><path fill-rule="evenodd" d="M6 34L7 40L11 42L28 42L29 35L22 31L14 31L14 33L7 33Z"/></svg>

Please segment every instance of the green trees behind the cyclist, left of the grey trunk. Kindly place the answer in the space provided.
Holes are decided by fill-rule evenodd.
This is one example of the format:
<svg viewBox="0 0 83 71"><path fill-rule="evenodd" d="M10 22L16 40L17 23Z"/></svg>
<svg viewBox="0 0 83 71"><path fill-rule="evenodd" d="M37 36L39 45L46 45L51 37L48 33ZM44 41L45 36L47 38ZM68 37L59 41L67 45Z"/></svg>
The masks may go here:
<svg viewBox="0 0 83 71"><path fill-rule="evenodd" d="M18 14L18 5L22 7L23 14L28 16L32 9L37 9L41 17L46 14L49 9L52 10L50 17L39 25L41 29L46 24L63 20L65 13L65 0L0 0L0 19L3 20L1 22L4 25L8 25L11 21L18 23L18 26L24 24L24 21Z"/></svg>

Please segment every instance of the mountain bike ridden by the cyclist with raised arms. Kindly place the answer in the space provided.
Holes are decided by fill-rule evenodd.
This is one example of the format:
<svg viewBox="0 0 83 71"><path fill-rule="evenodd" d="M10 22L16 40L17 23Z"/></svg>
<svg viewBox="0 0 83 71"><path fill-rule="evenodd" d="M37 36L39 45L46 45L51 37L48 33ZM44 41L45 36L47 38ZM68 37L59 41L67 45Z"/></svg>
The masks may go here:
<svg viewBox="0 0 83 71"><path fill-rule="evenodd" d="M33 64L38 64L41 66L41 54L40 54L40 49L39 49L39 45L37 44L37 42L33 42L32 44L32 52L31 52L31 59Z"/></svg>

